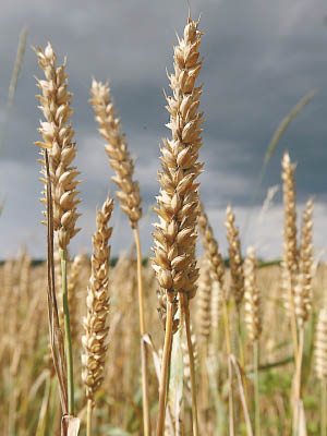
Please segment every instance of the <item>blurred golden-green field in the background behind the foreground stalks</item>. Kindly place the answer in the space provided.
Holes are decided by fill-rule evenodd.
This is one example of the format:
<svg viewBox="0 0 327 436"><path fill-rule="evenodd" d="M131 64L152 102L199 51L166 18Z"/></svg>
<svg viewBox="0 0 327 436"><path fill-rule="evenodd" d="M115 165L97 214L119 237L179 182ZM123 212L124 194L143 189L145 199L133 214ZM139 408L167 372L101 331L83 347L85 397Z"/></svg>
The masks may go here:
<svg viewBox="0 0 327 436"><path fill-rule="evenodd" d="M3 435L56 435L60 428L60 403L57 380L48 351L48 324L46 301L46 266L32 267L31 257L23 252L0 267L0 417ZM142 428L140 388L140 334L137 314L137 283L135 258L121 256L110 271L111 307L108 364L105 382L97 392L95 435L140 435ZM319 386L313 371L313 327L316 311L320 307L326 289L325 265L320 265L314 279L314 310L305 337L303 391L310 435L319 428ZM75 384L77 410L85 420L85 395L81 383L81 334L85 315L85 298L89 275L89 261L83 256L81 274L70 295L74 315L73 349L75 356ZM149 265L143 268L146 295L146 319L155 346L159 350L164 331L156 311L157 284ZM258 269L262 290L263 336L261 339L261 413L262 434L290 434L290 392L294 372L290 326L281 304L280 268L268 266ZM196 376L201 434L225 435L227 431L227 359L222 334L222 318L210 319L218 331L210 328L208 354L202 353L198 336L196 301L192 307L192 324L196 343ZM231 307L231 314L233 313ZM217 314L215 314L217 316ZM213 316L208 314L208 316ZM233 328L232 328L233 329ZM244 343L246 335L243 332ZM217 339L218 342L214 342ZM235 342L235 339L234 339ZM233 344L237 348L237 344ZM247 396L253 399L252 350L245 348ZM205 359L206 362L202 362ZM185 434L191 434L190 391L185 358ZM153 362L150 368L152 417L157 410L158 382ZM208 377L204 391L203 380ZM234 380L237 384L237 382ZM237 386L235 386L237 388ZM242 412L237 413L237 434L246 434ZM155 421L154 421L155 422ZM82 426L81 435L85 434Z"/></svg>

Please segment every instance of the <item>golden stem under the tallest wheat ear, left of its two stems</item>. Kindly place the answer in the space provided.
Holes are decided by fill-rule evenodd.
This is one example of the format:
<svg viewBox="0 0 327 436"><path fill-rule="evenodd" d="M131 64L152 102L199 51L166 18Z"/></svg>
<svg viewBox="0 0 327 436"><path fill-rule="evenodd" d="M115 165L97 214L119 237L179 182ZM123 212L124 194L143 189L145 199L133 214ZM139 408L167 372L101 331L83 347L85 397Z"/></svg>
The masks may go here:
<svg viewBox="0 0 327 436"><path fill-rule="evenodd" d="M160 375L160 386L159 386L159 411L157 421L157 436L164 436L165 432L165 414L166 414L166 392L167 392L167 374L170 362L170 349L172 341L172 314L173 314L173 303L167 301L167 317L166 317L166 334L164 343L164 353L161 362L161 375Z"/></svg>

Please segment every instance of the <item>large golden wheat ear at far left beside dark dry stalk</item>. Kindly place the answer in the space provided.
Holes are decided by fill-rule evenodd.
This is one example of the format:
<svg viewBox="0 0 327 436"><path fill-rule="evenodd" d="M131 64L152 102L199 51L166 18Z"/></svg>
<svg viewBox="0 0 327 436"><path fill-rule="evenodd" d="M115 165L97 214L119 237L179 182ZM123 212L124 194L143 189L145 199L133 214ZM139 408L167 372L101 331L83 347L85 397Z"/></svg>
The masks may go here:
<svg viewBox="0 0 327 436"><path fill-rule="evenodd" d="M70 118L73 110L70 106L72 94L68 92L68 75L64 72L65 61L56 66L56 53L48 43L45 50L40 47L35 49L38 63L44 70L46 80L37 80L37 86L41 95L37 96L40 101L38 107L46 121L40 121L39 133L44 142L35 144L41 147L43 166L41 181L46 184L44 149L49 153L50 179L53 201L53 230L58 244L65 251L70 240L78 232L75 228L80 216L76 206L81 199L76 198L80 183L76 177L80 172L72 167L75 158L75 143L72 142L74 131ZM46 194L40 201L46 204Z"/></svg>

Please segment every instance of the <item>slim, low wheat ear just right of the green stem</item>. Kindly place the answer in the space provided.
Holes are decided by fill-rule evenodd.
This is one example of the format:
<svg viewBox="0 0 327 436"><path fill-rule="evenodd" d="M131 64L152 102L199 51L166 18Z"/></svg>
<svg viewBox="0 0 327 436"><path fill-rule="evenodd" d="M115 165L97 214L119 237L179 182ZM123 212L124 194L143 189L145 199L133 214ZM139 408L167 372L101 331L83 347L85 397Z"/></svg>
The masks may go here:
<svg viewBox="0 0 327 436"><path fill-rule="evenodd" d="M83 318L85 335L82 337L82 378L86 396L94 401L94 393L104 379L106 353L108 349L108 245L112 228L108 227L113 209L113 199L107 197L102 208L97 211L97 231L93 235L92 274L87 290L87 315Z"/></svg>

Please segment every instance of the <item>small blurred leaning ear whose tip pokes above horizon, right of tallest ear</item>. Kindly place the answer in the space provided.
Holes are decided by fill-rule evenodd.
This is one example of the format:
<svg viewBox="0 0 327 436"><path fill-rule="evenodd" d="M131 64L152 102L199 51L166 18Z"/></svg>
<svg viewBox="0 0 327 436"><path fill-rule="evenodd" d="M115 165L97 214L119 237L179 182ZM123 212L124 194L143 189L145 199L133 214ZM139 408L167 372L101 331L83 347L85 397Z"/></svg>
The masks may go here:
<svg viewBox="0 0 327 436"><path fill-rule="evenodd" d="M244 295L244 276L242 266L241 241L239 238L239 229L235 226L235 215L230 206L226 209L227 220L227 240L229 243L229 266L231 272L231 295L234 298L237 308L240 305Z"/></svg>

